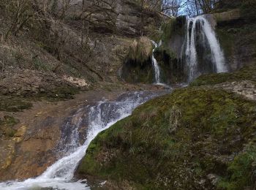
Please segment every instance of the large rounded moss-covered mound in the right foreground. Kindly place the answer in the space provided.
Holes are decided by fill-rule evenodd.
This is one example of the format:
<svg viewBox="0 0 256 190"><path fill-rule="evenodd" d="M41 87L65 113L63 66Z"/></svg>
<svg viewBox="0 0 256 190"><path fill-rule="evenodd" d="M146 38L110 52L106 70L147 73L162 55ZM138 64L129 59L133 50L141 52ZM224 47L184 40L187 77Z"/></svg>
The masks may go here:
<svg viewBox="0 0 256 190"><path fill-rule="evenodd" d="M78 175L135 189L254 186L255 106L225 91L176 90L100 133Z"/></svg>

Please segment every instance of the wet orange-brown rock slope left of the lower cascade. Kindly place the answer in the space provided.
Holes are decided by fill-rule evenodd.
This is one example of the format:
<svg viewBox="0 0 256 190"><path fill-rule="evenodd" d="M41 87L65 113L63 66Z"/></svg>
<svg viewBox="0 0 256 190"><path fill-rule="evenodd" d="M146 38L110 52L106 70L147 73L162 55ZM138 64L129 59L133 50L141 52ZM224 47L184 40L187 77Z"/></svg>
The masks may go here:
<svg viewBox="0 0 256 190"><path fill-rule="evenodd" d="M148 91L132 93L136 88L147 88ZM107 99L107 102L113 102L112 106L106 104L101 108L105 110L105 113L100 115L102 120L105 120L102 121L105 126L129 114L138 104L163 93L166 91L156 86L128 85L125 91L120 88L113 91L87 91L69 101L34 102L31 110L22 113L1 113L18 121L14 125L15 133L12 137L1 140L1 181L37 177L58 159L74 153L89 138L88 127L94 122L89 120L89 114L91 107L96 106L97 102ZM118 107L115 108L116 104ZM123 111L125 114L121 114ZM97 118L94 120L97 122ZM56 172L56 175L49 178L58 177L60 174L61 172Z"/></svg>

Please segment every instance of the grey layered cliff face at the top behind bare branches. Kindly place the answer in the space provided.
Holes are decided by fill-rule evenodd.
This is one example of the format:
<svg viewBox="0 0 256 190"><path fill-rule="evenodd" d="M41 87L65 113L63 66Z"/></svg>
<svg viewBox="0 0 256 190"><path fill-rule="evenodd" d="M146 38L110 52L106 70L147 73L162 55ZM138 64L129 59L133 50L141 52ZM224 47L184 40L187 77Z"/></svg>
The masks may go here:
<svg viewBox="0 0 256 190"><path fill-rule="evenodd" d="M150 9L142 9L135 0L84 1L86 12L90 15L91 29L97 33L135 37L151 33L151 28L160 26L162 17ZM73 5L70 15L81 9L82 1Z"/></svg>

